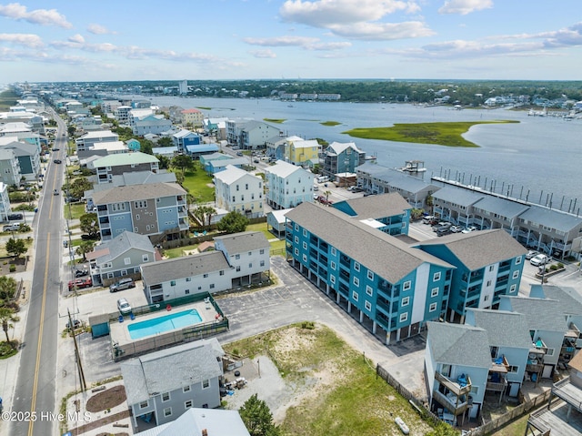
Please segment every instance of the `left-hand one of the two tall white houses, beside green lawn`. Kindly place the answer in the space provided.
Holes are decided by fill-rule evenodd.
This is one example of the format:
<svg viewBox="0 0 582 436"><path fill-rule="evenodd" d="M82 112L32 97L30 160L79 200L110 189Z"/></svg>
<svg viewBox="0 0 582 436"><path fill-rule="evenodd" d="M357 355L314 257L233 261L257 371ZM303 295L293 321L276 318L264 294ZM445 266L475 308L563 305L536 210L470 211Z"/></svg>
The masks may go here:
<svg viewBox="0 0 582 436"><path fill-rule="evenodd" d="M215 175L216 208L240 212L247 218L264 215L263 179L244 169L226 166Z"/></svg>

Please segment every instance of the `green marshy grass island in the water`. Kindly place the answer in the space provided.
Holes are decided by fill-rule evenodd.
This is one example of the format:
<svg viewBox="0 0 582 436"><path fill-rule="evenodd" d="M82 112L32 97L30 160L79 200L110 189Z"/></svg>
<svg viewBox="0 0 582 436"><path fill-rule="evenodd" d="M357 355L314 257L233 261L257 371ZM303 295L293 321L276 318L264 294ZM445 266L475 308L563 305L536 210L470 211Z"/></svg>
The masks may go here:
<svg viewBox="0 0 582 436"><path fill-rule="evenodd" d="M416 144L436 144L447 147L479 147L461 135L478 124L505 124L518 121L467 121L454 123L412 123L395 124L394 127L362 127L347 130L350 137L381 139L385 141L414 142Z"/></svg>

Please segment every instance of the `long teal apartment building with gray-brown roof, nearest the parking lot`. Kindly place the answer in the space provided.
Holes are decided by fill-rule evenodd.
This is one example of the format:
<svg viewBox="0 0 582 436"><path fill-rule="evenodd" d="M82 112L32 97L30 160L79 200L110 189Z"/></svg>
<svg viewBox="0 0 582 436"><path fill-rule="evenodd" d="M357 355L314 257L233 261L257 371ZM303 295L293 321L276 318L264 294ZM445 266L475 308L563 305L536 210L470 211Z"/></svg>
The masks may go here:
<svg viewBox="0 0 582 436"><path fill-rule="evenodd" d="M361 213L357 203L336 209L304 202L288 211L291 265L386 344L445 316L455 267L350 216L350 209Z"/></svg>

